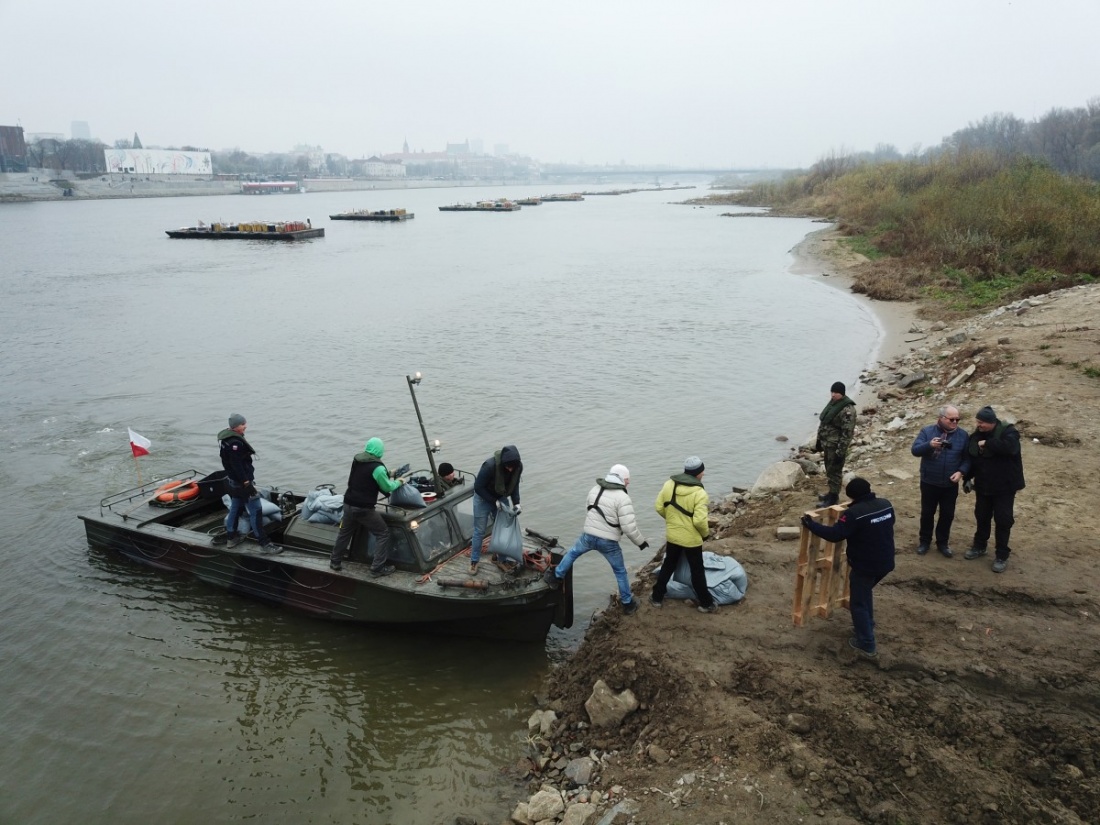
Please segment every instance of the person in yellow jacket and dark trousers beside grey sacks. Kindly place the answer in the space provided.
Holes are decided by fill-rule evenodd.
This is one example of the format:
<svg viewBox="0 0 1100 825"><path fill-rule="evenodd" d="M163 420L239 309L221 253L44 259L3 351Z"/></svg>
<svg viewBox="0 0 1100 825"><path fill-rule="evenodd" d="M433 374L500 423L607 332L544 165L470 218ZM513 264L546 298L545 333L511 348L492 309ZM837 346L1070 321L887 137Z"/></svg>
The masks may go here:
<svg viewBox="0 0 1100 825"><path fill-rule="evenodd" d="M718 606L706 586L706 571L703 570L703 539L711 528L707 525L711 497L703 490L703 460L692 455L684 462L684 471L664 482L657 496L658 515L664 519L664 561L657 574L657 584L649 596L653 607L664 602L664 591L669 580L676 572L680 557L688 557L691 568L691 586L698 600L700 613L716 613Z"/></svg>

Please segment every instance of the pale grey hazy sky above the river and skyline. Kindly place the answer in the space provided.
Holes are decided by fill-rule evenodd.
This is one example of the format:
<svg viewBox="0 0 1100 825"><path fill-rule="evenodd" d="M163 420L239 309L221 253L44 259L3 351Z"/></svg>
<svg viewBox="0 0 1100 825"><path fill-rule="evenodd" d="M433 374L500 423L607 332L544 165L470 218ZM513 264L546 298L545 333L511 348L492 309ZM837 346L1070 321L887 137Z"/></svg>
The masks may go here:
<svg viewBox="0 0 1100 825"><path fill-rule="evenodd" d="M0 0L0 124L807 166L1100 97L1100 0Z"/></svg>

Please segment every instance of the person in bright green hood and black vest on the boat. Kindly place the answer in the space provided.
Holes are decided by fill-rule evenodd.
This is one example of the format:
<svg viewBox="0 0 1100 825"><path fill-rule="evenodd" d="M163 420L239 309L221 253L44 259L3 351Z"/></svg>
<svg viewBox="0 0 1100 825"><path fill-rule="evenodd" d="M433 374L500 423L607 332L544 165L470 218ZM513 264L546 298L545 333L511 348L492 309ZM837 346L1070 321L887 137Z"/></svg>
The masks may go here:
<svg viewBox="0 0 1100 825"><path fill-rule="evenodd" d="M378 579L389 575L397 568L388 564L389 528L385 519L375 509L378 494L389 495L405 482L402 479L391 479L389 471L382 463L386 446L381 438L372 438L363 446L363 452L351 460L351 472L348 474L348 491L344 493L343 518L340 519L340 532L332 546L329 566L333 570L343 569L344 553L351 544L352 536L362 525L374 537L374 558L371 560L371 575Z"/></svg>

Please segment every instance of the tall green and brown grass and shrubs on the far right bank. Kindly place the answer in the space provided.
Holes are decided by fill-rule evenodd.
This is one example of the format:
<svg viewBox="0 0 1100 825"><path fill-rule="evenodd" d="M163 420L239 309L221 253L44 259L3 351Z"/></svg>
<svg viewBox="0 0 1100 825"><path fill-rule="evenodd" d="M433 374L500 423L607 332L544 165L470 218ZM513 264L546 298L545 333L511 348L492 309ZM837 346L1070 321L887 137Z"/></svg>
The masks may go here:
<svg viewBox="0 0 1100 825"><path fill-rule="evenodd" d="M1100 277L1100 186L1033 158L828 158L738 200L837 222L872 262L854 289L875 298L964 311Z"/></svg>

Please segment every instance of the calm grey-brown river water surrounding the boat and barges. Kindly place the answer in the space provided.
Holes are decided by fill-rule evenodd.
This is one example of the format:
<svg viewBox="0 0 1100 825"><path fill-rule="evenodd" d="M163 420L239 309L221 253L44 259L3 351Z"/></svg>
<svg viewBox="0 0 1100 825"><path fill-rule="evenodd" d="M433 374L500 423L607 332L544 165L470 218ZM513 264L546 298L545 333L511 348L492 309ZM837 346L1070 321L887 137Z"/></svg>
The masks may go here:
<svg viewBox="0 0 1100 825"><path fill-rule="evenodd" d="M342 487L371 436L472 471L515 443L521 524L572 542L584 496L631 470L644 534L683 459L712 497L810 433L881 331L790 272L817 227L673 205L702 190L515 213L455 199L551 187L0 206L0 822L436 825L503 817L531 694L615 591L576 568L576 625L543 648L362 629L91 550L77 514L218 468L249 419L261 483ZM559 190L566 190L558 187ZM404 207L402 224L330 221ZM198 220L309 217L309 242L174 241ZM625 544L637 570L649 554ZM751 578L751 571L748 571ZM780 620L782 617L777 617Z"/></svg>

